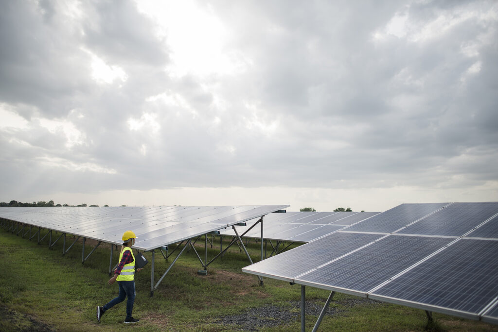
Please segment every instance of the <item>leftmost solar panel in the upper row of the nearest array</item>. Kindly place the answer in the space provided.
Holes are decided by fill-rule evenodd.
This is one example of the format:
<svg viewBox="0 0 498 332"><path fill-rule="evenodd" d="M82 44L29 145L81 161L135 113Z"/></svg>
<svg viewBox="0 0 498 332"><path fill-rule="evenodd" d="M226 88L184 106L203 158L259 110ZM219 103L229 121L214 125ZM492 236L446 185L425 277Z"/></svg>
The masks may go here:
<svg viewBox="0 0 498 332"><path fill-rule="evenodd" d="M392 233L448 203L401 204L348 228L355 232Z"/></svg>

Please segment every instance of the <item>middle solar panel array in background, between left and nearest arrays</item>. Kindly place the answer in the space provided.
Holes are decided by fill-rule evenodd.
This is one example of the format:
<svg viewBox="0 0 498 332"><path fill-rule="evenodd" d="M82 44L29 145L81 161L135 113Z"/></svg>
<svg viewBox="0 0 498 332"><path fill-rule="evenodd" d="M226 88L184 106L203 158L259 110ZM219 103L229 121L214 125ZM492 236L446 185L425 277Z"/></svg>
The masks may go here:
<svg viewBox="0 0 498 332"><path fill-rule="evenodd" d="M354 223L370 218L379 212L286 212L274 213L264 217L263 238L277 241L307 243L331 234ZM254 220L256 221L256 220ZM236 226L243 234L252 226ZM232 229L220 231L221 235L235 236ZM261 228L254 227L246 235L261 238Z"/></svg>

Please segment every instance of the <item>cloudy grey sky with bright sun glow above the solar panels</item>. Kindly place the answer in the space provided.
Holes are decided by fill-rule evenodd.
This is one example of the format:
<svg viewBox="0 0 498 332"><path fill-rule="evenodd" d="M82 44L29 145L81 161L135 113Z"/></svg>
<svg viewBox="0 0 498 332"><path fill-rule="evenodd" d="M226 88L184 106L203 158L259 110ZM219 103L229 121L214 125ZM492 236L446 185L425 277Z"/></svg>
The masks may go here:
<svg viewBox="0 0 498 332"><path fill-rule="evenodd" d="M0 201L498 201L496 1L2 1Z"/></svg>

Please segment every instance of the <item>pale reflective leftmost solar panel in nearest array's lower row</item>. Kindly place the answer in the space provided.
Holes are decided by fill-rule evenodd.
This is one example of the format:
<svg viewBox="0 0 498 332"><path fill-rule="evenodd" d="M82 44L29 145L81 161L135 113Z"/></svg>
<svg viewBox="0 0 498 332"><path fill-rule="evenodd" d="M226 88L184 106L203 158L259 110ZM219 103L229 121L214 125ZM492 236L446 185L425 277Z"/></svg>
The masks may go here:
<svg viewBox="0 0 498 332"><path fill-rule="evenodd" d="M301 273L340 257L382 237L377 234L334 233L322 239L279 253L250 266L244 272L292 281Z"/></svg>

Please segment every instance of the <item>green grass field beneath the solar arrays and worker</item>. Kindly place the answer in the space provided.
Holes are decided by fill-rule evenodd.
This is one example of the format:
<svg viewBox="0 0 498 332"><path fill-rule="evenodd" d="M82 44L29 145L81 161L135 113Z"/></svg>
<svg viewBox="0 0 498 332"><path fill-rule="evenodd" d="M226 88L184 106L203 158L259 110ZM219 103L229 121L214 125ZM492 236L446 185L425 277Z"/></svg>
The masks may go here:
<svg viewBox="0 0 498 332"><path fill-rule="evenodd" d="M42 231L43 235L43 231ZM37 238L35 238L37 239ZM196 272L202 266L193 252L184 252L150 297L150 264L135 276L136 292L133 316L140 322L123 324L125 302L117 305L97 323L96 307L117 296L118 286L107 285L110 245L101 245L83 265L81 242L62 256L62 242L48 249L48 240L40 245L33 239L16 236L0 229L0 331L241 331L245 325L227 325L223 317L248 316L250 308L278 307L292 318L249 318L259 323L272 321L271 327L257 331L300 331L300 286L264 279L259 286L255 276L242 273L249 261L239 248L232 247L208 268L208 275ZM71 239L71 237L68 237ZM216 240L216 238L215 238ZM208 257L219 252L219 239ZM201 257L204 240L199 245ZM227 246L224 243L224 247ZM196 245L197 246L197 245ZM86 246L86 253L93 247ZM250 242L252 260L259 260L260 245ZM201 253L202 252L202 253ZM150 258L150 253L145 253ZM162 275L166 262L156 254L155 280ZM113 262L118 261L115 252ZM306 288L307 307L323 306L328 291ZM349 295L336 294L319 331L425 331L427 318L423 310ZM241 315L242 314L242 315ZM317 315L306 316L306 330L311 331ZM452 316L433 314L432 331L498 331L498 326ZM285 316L289 317L289 316ZM226 321L226 320L225 320Z"/></svg>

